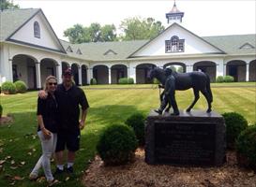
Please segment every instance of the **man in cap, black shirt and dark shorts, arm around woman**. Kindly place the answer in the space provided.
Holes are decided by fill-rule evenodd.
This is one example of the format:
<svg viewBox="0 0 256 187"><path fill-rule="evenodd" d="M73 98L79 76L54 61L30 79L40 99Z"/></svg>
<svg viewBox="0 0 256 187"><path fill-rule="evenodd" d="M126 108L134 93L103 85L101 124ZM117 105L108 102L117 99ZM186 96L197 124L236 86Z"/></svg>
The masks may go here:
<svg viewBox="0 0 256 187"><path fill-rule="evenodd" d="M73 173L75 153L80 148L80 130L85 125L87 108L89 108L87 99L83 90L73 83L71 69L67 69L62 76L63 82L58 85L55 94L58 104L58 122L59 129L57 133L57 145L55 150L57 168L55 174L64 172L64 151L68 150L68 173ZM44 97L42 91L40 97ZM80 108L82 107L82 117L80 117Z"/></svg>

